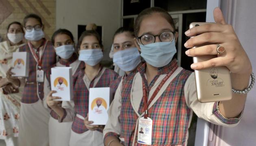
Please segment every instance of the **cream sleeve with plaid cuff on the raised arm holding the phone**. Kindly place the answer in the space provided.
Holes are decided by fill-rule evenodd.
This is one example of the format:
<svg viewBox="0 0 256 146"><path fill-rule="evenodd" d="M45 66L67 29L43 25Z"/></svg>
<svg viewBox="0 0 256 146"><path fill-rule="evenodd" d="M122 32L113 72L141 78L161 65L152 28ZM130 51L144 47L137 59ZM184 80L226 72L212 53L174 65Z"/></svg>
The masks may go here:
<svg viewBox="0 0 256 146"><path fill-rule="evenodd" d="M219 102L200 103L197 100L196 85L195 85L195 74L192 73L184 86L184 94L188 107L195 112L195 114L208 122L216 125L234 127L236 126L241 117L239 118L225 118L219 112Z"/></svg>

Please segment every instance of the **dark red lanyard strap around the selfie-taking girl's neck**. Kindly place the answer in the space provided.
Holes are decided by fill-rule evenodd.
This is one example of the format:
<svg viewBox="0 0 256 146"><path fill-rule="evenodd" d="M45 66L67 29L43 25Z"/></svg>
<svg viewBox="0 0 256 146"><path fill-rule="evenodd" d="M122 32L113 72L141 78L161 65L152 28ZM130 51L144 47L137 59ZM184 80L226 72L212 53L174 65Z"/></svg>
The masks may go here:
<svg viewBox="0 0 256 146"><path fill-rule="evenodd" d="M174 68L171 69L171 71L163 78L163 80L161 81L161 83L157 86L156 90L154 91L154 93L152 94L152 96L150 97L150 100L148 101L148 92L146 90L146 86L145 83L142 80L142 86L143 86L143 103L144 103L144 118L148 118L148 106L150 105L150 103L153 101L153 99L156 97L156 94L161 90L161 88L163 87L163 85L165 84L165 82L167 81L167 79L169 79L169 77L174 73L174 71L178 68L178 66L176 65Z"/></svg>

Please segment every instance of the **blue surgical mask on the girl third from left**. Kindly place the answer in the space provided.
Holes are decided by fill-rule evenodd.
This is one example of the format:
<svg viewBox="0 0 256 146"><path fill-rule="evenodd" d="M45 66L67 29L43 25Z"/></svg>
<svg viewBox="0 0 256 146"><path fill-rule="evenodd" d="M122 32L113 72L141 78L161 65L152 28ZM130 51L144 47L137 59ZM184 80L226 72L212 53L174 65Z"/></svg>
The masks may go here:
<svg viewBox="0 0 256 146"><path fill-rule="evenodd" d="M55 48L56 54L63 59L68 59L75 52L74 45L62 45Z"/></svg>

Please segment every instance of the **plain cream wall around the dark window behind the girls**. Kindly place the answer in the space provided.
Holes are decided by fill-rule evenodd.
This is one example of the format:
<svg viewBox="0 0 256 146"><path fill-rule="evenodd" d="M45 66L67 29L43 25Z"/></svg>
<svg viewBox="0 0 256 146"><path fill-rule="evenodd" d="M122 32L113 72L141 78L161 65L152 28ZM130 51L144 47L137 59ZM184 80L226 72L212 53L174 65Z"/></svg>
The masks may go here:
<svg viewBox="0 0 256 146"><path fill-rule="evenodd" d="M102 26L104 59L107 60L112 37L121 26L121 0L56 0L56 29L70 30L77 42L78 25Z"/></svg>

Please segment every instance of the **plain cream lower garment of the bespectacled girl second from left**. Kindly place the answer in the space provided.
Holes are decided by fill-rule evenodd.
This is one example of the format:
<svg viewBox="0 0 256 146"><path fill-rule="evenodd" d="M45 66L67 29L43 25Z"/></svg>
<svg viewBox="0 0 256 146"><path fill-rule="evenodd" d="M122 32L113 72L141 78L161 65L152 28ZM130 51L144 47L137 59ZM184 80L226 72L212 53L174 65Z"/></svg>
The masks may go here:
<svg viewBox="0 0 256 146"><path fill-rule="evenodd" d="M49 118L49 110L41 99L35 103L21 103L19 146L49 146Z"/></svg>

